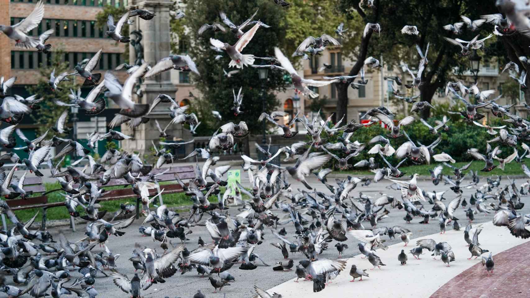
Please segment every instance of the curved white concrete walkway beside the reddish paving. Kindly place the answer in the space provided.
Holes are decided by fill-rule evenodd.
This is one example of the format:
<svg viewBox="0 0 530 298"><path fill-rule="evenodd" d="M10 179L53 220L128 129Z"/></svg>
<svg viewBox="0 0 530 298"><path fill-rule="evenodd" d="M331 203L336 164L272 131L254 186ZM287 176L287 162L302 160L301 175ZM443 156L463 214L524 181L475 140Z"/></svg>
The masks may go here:
<svg viewBox="0 0 530 298"><path fill-rule="evenodd" d="M492 215L489 216L492 217ZM481 248L492 251L493 255L530 241L530 239L515 238L511 236L507 228L495 227L491 222L484 223L483 227L484 229L479 235ZM464 240L463 230L464 227L460 231L452 230L442 235L437 233L427 237L411 239L407 247L403 247L403 243L399 243L390 246L386 251L378 249L377 255L387 265L382 266L382 269L375 268L370 270L372 264L368 262L368 259L361 259L359 255L349 258L346 269L340 273L333 283L326 285L324 290L319 293L313 293L313 282L302 281L302 279L299 283L295 283L295 279L292 279L269 289L267 292L270 294L276 292L284 297L304 298L348 297L352 293L359 293L356 296L364 293L363 296L366 294L366 297L427 298L451 278L480 262L480 258L467 260L471 254L466 247L467 243ZM383 239L386 237L383 236ZM421 260L414 259L411 254L408 254L407 265L400 265L398 254L400 254L402 249L408 253L410 249L416 247L417 240L429 238L437 242L447 241L452 246L456 260L451 262L451 267L446 267L439 256L437 260L432 259L431 253L426 249L423 250L424 254L421 256ZM354 249L357 249L357 247ZM489 252L485 255L487 256L488 254ZM362 282L358 278L355 282L350 282L352 278L349 275L349 271L352 264L356 264L359 269L368 269L367 273L370 276L363 277ZM502 264L495 264L495 266L502 266Z"/></svg>

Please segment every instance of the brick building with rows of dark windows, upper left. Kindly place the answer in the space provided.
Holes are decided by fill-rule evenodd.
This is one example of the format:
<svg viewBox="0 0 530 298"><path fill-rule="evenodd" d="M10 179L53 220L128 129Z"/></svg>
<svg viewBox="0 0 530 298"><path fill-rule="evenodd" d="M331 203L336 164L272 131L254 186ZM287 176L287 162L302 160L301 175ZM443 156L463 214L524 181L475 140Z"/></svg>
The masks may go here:
<svg viewBox="0 0 530 298"><path fill-rule="evenodd" d="M12 94L31 95L26 91L26 87L39 82L41 79L39 67L49 66L51 59L57 55L55 51L58 49L61 49L61 60L68 62L72 70L78 62L92 57L101 48L103 48L103 54L98 68L102 75L105 71L114 69L124 61L122 53L125 51L125 45L108 38L105 35L107 28L98 28L95 17L103 10L103 6L125 6L127 0L43 1L45 1L45 15L39 26L29 34L38 36L46 30L55 29L55 33L48 39L48 43L52 44L50 53L39 53L34 48L16 48L13 40L8 39L5 34L0 34L0 44L2 44L0 47L0 75L5 78L16 77L15 85L11 90ZM37 0L0 0L0 24L20 22L33 11L37 2ZM116 73L123 82L127 76L125 71ZM83 88L83 96L86 96L90 89ZM110 122L116 113L117 110L113 109L115 106L112 102L108 103L108 106L110 109L98 115L99 122ZM90 123L91 118L86 116L84 112L80 112L78 118L78 124L81 127L90 127L87 123ZM70 119L72 119L72 115L70 115ZM36 128L32 121L31 117L25 117L19 125L30 139L35 135ZM83 130L78 131L77 138L86 138L85 132ZM21 157L24 155L24 153L22 155L20 152L17 153Z"/></svg>

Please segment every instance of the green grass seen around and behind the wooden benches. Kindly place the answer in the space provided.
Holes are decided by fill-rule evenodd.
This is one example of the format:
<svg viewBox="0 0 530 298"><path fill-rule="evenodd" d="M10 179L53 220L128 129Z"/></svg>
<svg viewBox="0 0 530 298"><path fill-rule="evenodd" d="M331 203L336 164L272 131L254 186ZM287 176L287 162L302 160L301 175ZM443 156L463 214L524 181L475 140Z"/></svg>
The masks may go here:
<svg viewBox="0 0 530 298"><path fill-rule="evenodd" d="M171 184L171 182L160 183L161 188L164 188L165 184ZM45 187L46 187L46 191L51 191L52 189L60 188L60 185L59 183L45 183ZM127 186L127 187L130 187L130 186ZM103 187L103 188L106 189L107 191L110 191L111 189L123 188L123 186L109 186L109 187ZM65 197L61 195L60 192L62 191L57 191L57 192L48 194L48 202L49 203L63 202L65 200ZM168 207L192 204L190 197L186 196L184 193L163 194L162 198L163 198L164 204L167 205ZM217 197L211 196L209 200L210 202L215 203L217 202ZM119 209L120 203L136 204L136 197L125 198L122 200L101 202L100 204L103 207L100 209L100 211L107 210L107 214L114 213ZM15 211L15 214L16 216L18 216L18 218L21 221L24 222L24 221L31 219L37 211L39 211L39 215L37 215L37 218L35 220L37 222L40 222L42 220L42 209L41 208L19 210L19 211ZM79 211L81 215L84 214L83 207L81 206L77 207L77 211ZM68 214L66 207L60 206L60 207L53 207L53 208L48 209L46 212L46 216L47 216L47 220L57 220L57 219L67 219L69 218L70 215ZM9 220L7 219L7 221Z"/></svg>

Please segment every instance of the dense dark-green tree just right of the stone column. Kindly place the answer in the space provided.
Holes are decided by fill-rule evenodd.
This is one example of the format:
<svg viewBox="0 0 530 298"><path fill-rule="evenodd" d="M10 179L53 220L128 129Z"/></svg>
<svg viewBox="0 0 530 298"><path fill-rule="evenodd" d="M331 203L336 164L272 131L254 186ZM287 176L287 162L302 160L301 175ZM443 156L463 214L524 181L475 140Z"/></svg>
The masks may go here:
<svg viewBox="0 0 530 298"><path fill-rule="evenodd" d="M280 5L274 4L268 0L246 1L246 0L189 0L187 3L186 17L174 22L182 24L189 30L180 30L187 32L179 39L192 40L193 43L188 47L190 57L196 62L200 76L191 74L191 79L195 87L199 89L204 100L209 101L214 110L219 111L223 117L223 123L245 121L252 132L262 129L261 123L257 121L261 114L262 98L265 100L265 110L270 112L278 106L276 96L273 91L280 91L285 82L281 71L269 71L267 82L261 82L258 77L258 70L252 67L245 67L238 74L227 78L223 75L223 69L228 69L229 58L226 53L219 53L210 49L210 38L216 38L223 42L234 44L237 39L230 31L227 33L206 31L202 36L195 37L195 33L202 24L221 22L219 12L226 12L229 19L236 24L241 24L251 16L259 7L255 20L260 20L265 24L271 25L271 28L260 28L254 35L254 38L245 47L243 53L252 53L256 57L273 57L274 47L278 44L284 44L286 35L286 26L282 24L286 17L286 10ZM224 24L223 24L224 25ZM226 25L224 25L226 28ZM178 25L172 24L173 32L178 32ZM245 28L244 31L250 29ZM191 38L193 36L193 38ZM176 47L173 48L173 50ZM182 48L182 47L181 47ZM174 52L179 53L180 52ZM184 54L184 53L182 53ZM215 56L223 55L223 58L215 60ZM265 61L256 59L254 64L262 64ZM231 112L233 104L232 90L237 94L238 89L243 86L243 109L244 113L235 116ZM261 94L262 89L265 93Z"/></svg>

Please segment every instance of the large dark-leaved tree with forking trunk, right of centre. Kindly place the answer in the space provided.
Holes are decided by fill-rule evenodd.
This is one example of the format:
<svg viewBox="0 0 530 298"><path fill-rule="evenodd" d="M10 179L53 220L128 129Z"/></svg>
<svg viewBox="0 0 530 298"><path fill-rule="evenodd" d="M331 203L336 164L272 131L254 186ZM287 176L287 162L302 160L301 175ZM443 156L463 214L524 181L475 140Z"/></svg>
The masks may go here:
<svg viewBox="0 0 530 298"><path fill-rule="evenodd" d="M461 22L460 15L466 15L471 20L480 19L481 14L494 13L492 3L481 0L410 0L410 1L374 1L375 8L367 7L366 4L359 6L358 0L339 0L340 7L348 17L359 15L363 23L379 23L382 28L381 37L368 33L365 38L360 38L357 48L345 47L346 55L356 57L356 64L350 70L349 75L357 75L367 56L378 58L384 57L384 67L396 67L402 62L409 68L417 68L419 55L416 44L425 51L430 43L428 60L429 64L422 73L422 85L419 87L421 101L431 102L432 96L437 89L446 85L449 79L469 69L469 59L459 57L458 47L444 40L444 37L471 40L475 35L481 37L491 33L492 25L484 24L479 30L471 32L464 26L462 33L455 36L453 33L443 29L444 25ZM401 34L404 25L416 25L419 35ZM361 35L360 31L357 35ZM484 52L489 48L497 49L494 38L488 41ZM498 51L490 51L494 55ZM457 70L456 75L454 71ZM402 80L410 79L405 75ZM337 117L347 114L348 84L337 84ZM427 118L429 110L422 114Z"/></svg>

